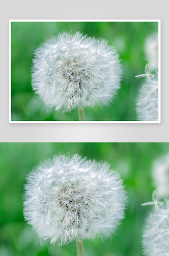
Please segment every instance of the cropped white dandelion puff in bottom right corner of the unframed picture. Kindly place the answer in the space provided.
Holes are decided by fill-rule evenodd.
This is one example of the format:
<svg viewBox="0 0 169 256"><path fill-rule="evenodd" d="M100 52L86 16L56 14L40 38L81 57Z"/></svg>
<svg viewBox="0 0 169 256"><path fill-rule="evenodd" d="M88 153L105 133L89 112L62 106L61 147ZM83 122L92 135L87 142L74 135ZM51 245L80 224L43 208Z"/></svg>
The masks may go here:
<svg viewBox="0 0 169 256"><path fill-rule="evenodd" d="M144 255L169 255L169 200L165 199L146 220L143 232Z"/></svg>

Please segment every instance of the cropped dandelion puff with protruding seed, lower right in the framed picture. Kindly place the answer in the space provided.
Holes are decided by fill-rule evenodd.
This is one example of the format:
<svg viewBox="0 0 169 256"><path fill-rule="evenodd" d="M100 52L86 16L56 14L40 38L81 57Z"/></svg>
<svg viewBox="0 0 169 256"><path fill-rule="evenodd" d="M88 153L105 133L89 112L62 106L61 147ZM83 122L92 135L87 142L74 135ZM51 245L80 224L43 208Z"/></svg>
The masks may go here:
<svg viewBox="0 0 169 256"><path fill-rule="evenodd" d="M158 73L150 74L150 68L146 65L145 74L136 77L146 77L136 100L137 120L158 121Z"/></svg>

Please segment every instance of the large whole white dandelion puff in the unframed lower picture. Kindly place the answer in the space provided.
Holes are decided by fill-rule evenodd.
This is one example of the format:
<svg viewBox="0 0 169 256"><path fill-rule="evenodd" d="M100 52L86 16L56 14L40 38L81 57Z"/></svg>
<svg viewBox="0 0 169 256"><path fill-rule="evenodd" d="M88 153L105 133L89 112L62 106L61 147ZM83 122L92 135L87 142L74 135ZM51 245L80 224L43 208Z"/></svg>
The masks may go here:
<svg viewBox="0 0 169 256"><path fill-rule="evenodd" d="M54 156L27 176L24 217L53 244L103 239L124 218L125 194L123 181L107 163L78 154Z"/></svg>

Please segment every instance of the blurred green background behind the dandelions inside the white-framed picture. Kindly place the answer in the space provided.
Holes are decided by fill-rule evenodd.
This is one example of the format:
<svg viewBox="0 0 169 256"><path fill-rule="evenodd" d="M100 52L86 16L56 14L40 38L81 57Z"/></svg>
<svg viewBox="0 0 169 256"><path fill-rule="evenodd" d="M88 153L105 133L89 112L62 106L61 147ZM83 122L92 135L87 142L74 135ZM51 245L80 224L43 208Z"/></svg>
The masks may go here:
<svg viewBox="0 0 169 256"><path fill-rule="evenodd" d="M80 31L88 36L106 38L117 49L123 65L121 89L109 106L85 108L86 120L136 120L135 99L147 63L146 38L158 33L157 22L12 22L11 23L11 120L74 121L77 109L68 113L46 112L46 106L31 86L34 51L46 37L62 31Z"/></svg>

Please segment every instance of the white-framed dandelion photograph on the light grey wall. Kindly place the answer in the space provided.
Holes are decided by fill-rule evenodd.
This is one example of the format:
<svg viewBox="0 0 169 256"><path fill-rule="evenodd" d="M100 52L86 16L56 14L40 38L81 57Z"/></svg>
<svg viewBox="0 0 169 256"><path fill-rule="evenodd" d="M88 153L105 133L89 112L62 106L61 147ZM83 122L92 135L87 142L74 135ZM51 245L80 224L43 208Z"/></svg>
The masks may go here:
<svg viewBox="0 0 169 256"><path fill-rule="evenodd" d="M160 20L9 20L9 122L160 122Z"/></svg>

